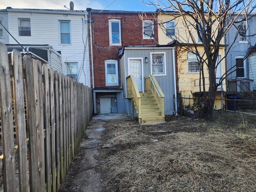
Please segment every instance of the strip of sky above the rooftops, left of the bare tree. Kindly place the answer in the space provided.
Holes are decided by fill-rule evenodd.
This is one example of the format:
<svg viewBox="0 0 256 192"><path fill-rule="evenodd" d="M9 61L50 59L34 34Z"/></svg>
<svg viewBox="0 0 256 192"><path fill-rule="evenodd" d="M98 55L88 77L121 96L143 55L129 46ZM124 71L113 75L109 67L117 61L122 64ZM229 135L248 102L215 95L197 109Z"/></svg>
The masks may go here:
<svg viewBox="0 0 256 192"><path fill-rule="evenodd" d="M140 0L72 0L74 10L92 9L124 10L124 11L156 11L156 7L147 6ZM1 0L0 9L6 7L29 9L66 9L68 0Z"/></svg>

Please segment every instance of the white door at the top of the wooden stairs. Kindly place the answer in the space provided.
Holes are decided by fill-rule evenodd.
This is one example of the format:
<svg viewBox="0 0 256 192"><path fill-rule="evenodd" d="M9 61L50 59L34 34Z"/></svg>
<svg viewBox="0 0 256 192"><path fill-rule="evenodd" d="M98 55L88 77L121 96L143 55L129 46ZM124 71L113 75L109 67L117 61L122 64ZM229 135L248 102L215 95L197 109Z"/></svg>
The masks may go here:
<svg viewBox="0 0 256 192"><path fill-rule="evenodd" d="M130 74L133 75L139 91L142 91L141 60L130 60Z"/></svg>

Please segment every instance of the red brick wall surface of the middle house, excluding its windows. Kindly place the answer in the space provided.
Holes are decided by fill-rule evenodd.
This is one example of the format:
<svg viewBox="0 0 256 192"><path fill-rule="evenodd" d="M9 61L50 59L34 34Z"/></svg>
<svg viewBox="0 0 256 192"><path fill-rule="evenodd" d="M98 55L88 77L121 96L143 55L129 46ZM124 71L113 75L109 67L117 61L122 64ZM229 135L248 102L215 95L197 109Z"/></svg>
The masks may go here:
<svg viewBox="0 0 256 192"><path fill-rule="evenodd" d="M93 37L93 65L94 65L94 84L95 88L106 87L105 78L105 60L113 59L118 61L118 73L119 73L119 57L118 52L123 46L132 45L152 45L158 42L158 29L157 25L154 27L154 40L143 39L143 21L138 14L92 14L92 37ZM157 18L157 16L156 16ZM109 19L121 20L121 43L122 46L109 46ZM147 15L147 19L144 20L157 20L153 15ZM90 31L89 31L90 35ZM89 38L89 45L90 45ZM90 64L91 64L91 49L89 46ZM91 65L90 65L91 68ZM90 69L91 70L91 69ZM91 70L92 79L92 70ZM92 81L91 81L92 82ZM108 86L111 88L120 87L120 75L119 86Z"/></svg>

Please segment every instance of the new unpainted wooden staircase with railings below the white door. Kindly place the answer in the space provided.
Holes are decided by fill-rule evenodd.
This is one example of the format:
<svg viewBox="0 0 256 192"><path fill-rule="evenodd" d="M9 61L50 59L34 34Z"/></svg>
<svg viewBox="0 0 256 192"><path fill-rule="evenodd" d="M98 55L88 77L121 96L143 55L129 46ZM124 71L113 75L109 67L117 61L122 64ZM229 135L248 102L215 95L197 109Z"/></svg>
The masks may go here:
<svg viewBox="0 0 256 192"><path fill-rule="evenodd" d="M163 95L153 75L145 78L146 92L139 92L132 75L127 78L127 98L132 99L132 117L134 106L139 118L139 123L158 123L165 121Z"/></svg>

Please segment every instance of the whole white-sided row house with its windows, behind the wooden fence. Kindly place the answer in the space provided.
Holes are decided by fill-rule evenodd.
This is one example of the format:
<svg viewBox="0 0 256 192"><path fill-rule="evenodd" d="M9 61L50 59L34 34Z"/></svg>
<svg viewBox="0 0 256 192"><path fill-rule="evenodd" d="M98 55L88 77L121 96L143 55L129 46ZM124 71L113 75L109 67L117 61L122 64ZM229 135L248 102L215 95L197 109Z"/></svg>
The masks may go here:
<svg viewBox="0 0 256 192"><path fill-rule="evenodd" d="M51 46L61 54L59 70L90 87L87 11L7 7L1 12L7 12L8 17L0 19L20 44ZM17 44L11 35L9 42L0 42Z"/></svg>

